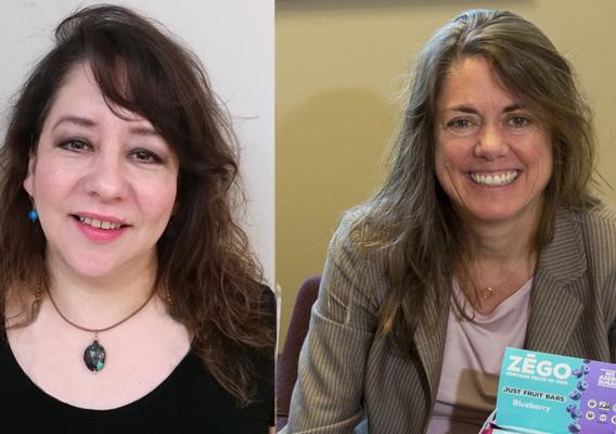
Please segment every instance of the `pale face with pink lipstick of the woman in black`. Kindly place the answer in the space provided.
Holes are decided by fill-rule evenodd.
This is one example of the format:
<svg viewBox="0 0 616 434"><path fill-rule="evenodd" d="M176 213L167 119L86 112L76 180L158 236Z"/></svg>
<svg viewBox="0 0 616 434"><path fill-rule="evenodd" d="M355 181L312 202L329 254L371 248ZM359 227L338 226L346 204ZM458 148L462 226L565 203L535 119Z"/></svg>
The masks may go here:
<svg viewBox="0 0 616 434"><path fill-rule="evenodd" d="M87 64L59 89L24 188L34 197L52 272L119 278L156 266L176 202L179 163L152 125L114 107ZM55 267L55 268L54 268Z"/></svg>

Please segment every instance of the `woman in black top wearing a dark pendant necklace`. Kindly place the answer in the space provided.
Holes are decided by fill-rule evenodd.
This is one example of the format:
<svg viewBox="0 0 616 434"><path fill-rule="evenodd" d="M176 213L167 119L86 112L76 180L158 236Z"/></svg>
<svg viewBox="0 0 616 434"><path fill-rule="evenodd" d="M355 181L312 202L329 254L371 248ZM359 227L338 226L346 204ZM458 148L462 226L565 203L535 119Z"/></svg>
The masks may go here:
<svg viewBox="0 0 616 434"><path fill-rule="evenodd" d="M200 62L119 7L55 37L0 151L2 427L268 432L273 297Z"/></svg>

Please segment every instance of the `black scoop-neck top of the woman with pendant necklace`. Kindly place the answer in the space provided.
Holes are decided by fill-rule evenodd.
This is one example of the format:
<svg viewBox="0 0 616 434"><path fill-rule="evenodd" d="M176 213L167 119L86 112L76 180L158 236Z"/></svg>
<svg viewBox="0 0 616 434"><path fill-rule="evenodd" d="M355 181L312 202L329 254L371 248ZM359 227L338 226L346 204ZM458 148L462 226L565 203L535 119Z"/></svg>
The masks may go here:
<svg viewBox="0 0 616 434"><path fill-rule="evenodd" d="M190 352L144 397L111 410L88 410L62 403L34 384L1 332L0 432L264 434L273 425L273 357L255 356L253 361L261 380L257 399L244 408Z"/></svg>

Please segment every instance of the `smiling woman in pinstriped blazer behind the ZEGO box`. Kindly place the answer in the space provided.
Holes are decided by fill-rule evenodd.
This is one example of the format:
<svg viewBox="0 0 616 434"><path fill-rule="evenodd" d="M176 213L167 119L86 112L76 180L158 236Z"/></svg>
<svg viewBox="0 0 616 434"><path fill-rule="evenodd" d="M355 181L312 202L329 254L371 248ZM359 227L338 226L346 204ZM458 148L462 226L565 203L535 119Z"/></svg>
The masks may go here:
<svg viewBox="0 0 616 434"><path fill-rule="evenodd" d="M471 10L408 98L384 186L330 245L287 433L477 433L506 346L616 361L616 213L568 62Z"/></svg>

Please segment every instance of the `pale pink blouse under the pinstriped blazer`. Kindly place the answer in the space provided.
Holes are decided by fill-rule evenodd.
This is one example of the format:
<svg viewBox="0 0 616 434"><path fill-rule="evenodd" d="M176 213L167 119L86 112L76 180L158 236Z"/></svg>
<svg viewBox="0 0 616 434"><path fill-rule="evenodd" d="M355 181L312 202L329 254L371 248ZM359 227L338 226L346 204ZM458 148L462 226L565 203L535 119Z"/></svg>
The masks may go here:
<svg viewBox="0 0 616 434"><path fill-rule="evenodd" d="M495 409L504 348L522 348L530 302L529 279L490 314L467 321L452 299L447 322L440 383L427 434L477 434ZM453 295L466 298L457 282ZM466 303L466 309L472 308Z"/></svg>

